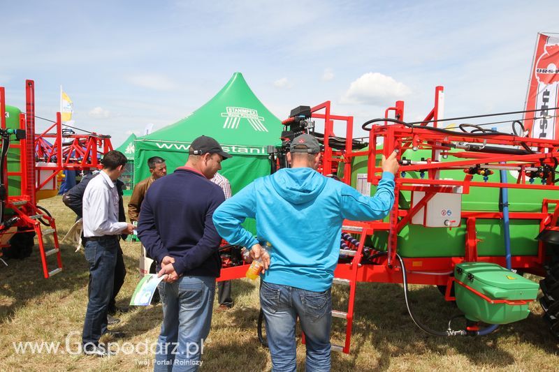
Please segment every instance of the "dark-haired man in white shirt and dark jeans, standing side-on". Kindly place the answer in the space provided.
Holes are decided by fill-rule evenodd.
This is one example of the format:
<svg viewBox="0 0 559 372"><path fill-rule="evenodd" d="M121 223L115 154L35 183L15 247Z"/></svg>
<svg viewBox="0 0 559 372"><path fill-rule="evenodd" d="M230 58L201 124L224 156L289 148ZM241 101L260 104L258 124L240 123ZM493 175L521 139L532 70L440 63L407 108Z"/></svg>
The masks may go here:
<svg viewBox="0 0 559 372"><path fill-rule="evenodd" d="M118 236L132 234L133 225L118 221L119 194L115 182L124 172L126 156L109 151L101 161L103 170L94 177L83 195L85 259L89 262L91 285L83 325L82 344L87 355L106 356L99 338L107 332L107 311L120 248Z"/></svg>

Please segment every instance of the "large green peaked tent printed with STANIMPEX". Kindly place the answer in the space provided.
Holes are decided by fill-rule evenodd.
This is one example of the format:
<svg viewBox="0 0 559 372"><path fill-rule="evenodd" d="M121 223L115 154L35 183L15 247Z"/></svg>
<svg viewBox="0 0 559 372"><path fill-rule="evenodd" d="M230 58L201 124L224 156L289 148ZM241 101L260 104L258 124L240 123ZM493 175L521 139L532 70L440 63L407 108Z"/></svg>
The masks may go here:
<svg viewBox="0 0 559 372"><path fill-rule="evenodd" d="M233 155L222 162L219 173L229 179L234 194L270 174L267 147L277 144L281 133L281 121L256 98L242 74L234 73L222 90L189 117L136 139L134 182L149 176L148 158L161 156L168 172L173 172L187 161L191 142L208 135Z"/></svg>

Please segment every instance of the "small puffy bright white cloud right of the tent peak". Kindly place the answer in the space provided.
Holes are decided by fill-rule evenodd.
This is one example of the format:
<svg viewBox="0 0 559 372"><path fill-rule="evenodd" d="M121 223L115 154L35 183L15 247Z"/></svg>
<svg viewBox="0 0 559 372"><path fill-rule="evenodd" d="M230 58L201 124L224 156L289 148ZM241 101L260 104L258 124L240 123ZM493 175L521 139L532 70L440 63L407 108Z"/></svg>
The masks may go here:
<svg viewBox="0 0 559 372"><path fill-rule="evenodd" d="M391 76L382 73L365 73L351 82L349 89L342 96L342 103L388 105L395 99L412 93L407 85L397 82Z"/></svg>

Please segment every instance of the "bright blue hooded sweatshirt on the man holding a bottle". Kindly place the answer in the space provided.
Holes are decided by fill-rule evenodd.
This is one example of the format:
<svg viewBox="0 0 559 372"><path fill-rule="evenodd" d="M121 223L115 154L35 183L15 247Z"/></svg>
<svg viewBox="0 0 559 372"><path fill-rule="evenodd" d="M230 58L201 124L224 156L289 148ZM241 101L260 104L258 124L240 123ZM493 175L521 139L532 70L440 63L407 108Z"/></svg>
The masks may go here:
<svg viewBox="0 0 559 372"><path fill-rule="evenodd" d="M249 249L263 241L272 244L264 281L322 292L332 285L344 218L384 218L393 202L390 172L382 174L375 196L367 197L311 168L284 168L226 200L213 221L231 244ZM258 239L242 228L247 217L256 218Z"/></svg>

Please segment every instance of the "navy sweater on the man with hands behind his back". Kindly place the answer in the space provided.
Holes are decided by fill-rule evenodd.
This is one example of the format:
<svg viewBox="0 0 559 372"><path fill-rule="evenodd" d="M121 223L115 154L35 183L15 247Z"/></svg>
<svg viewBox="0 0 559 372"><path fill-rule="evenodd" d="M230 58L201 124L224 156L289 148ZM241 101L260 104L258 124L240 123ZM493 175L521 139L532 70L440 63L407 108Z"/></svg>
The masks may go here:
<svg viewBox="0 0 559 372"><path fill-rule="evenodd" d="M158 270L166 255L185 276L219 276L221 237L212 215L225 197L222 188L202 174L179 168L154 181L140 209L138 237Z"/></svg>

